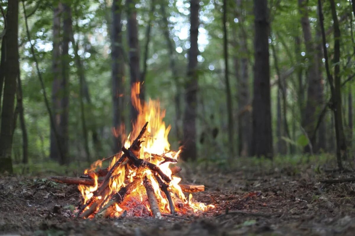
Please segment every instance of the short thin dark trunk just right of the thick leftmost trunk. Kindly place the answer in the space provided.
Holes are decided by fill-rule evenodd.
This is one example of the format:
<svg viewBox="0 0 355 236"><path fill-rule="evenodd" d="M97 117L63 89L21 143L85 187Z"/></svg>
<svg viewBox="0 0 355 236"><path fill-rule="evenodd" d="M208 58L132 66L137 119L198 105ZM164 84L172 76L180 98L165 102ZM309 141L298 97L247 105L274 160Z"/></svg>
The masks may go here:
<svg viewBox="0 0 355 236"><path fill-rule="evenodd" d="M18 113L20 115L20 126L22 131L22 163L28 163L28 136L27 136L27 129L26 123L24 120L24 113L23 113L23 102L22 102L22 83L20 77L20 62L18 62L18 76L17 76L17 93L16 93L16 100L17 100L17 107Z"/></svg>

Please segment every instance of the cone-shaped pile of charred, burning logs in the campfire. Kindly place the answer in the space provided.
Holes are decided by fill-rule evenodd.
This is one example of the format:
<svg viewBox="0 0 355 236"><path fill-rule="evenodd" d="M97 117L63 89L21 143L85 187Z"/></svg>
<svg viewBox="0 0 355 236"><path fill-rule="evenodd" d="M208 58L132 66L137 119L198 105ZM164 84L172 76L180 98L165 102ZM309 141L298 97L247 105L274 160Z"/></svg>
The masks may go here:
<svg viewBox="0 0 355 236"><path fill-rule="evenodd" d="M149 207L147 207L154 218L161 218L166 213L166 210L169 210L170 214L174 214L176 209L178 209L176 205L181 206L181 202L186 207L191 207L194 211L207 208L202 203L192 203L191 199L187 201L183 194L183 192L187 192L191 195L191 192L204 191L203 185L178 184L174 180L174 175L181 171L181 168L178 166L169 168L170 171L162 169L162 165L165 163L177 163L177 155L175 155L176 157L172 157L164 153L141 154L142 137L147 130L147 125L148 122L144 124L129 148L122 147L122 152L115 155L118 159L110 165L110 168L98 169L86 173L80 178L49 177L50 180L60 183L91 186L93 191L86 192L86 196L88 197L83 206L78 210L77 217L109 218L116 216L116 209L120 208L120 204L124 202L126 197L138 191L140 191L141 199L143 191L144 197L147 198L149 203ZM168 164L165 164L165 166L168 166ZM118 173L119 168L122 167L125 172ZM117 179L123 179L123 182L120 183L119 188L114 189L113 182ZM175 200L173 198L179 200L180 203L174 203ZM165 205L163 202L165 202Z"/></svg>

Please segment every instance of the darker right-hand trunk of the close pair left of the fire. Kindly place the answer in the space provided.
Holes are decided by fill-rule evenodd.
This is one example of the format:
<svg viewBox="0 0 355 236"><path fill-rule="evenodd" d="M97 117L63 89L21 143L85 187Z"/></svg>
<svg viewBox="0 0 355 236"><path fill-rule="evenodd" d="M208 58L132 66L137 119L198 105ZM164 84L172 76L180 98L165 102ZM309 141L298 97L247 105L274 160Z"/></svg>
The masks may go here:
<svg viewBox="0 0 355 236"><path fill-rule="evenodd" d="M72 34L71 9L67 4L63 4L63 41L62 41L62 81L60 84L61 96L61 113L60 113L60 136L64 159L59 161L60 164L69 163L69 42Z"/></svg>

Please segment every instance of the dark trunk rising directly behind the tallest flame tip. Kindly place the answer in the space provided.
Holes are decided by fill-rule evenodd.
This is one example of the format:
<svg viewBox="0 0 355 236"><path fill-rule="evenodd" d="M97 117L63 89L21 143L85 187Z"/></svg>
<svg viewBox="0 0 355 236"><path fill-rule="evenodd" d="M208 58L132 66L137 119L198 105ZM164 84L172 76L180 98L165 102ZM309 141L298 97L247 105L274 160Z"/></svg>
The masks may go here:
<svg viewBox="0 0 355 236"><path fill-rule="evenodd" d="M127 30L128 30L128 42L129 42L129 62L130 62L130 75L131 75L131 87L133 84L142 82L139 66L139 45L138 45L138 28L137 28L137 10L135 7L136 0L127 0ZM141 83L140 85L140 99L144 100L144 89ZM133 107L131 103L131 120L135 123L137 120L138 111Z"/></svg>

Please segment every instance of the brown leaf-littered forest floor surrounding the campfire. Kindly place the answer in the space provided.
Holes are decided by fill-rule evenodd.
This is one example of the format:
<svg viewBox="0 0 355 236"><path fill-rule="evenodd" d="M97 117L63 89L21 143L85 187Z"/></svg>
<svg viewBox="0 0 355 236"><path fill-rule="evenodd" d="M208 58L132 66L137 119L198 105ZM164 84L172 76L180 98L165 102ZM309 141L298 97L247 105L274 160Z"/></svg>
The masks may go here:
<svg viewBox="0 0 355 236"><path fill-rule="evenodd" d="M287 162L287 161L285 161ZM355 182L328 165L249 162L234 170L185 163L185 182L204 184L197 201L216 207L186 219L75 219L76 186L41 176L0 176L0 235L354 235Z"/></svg>

